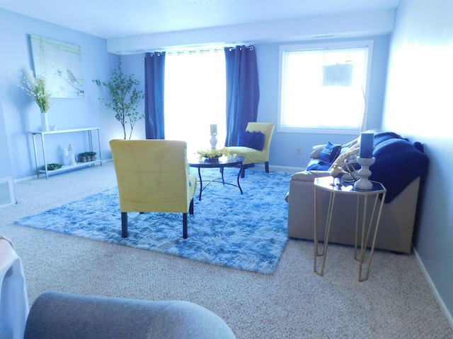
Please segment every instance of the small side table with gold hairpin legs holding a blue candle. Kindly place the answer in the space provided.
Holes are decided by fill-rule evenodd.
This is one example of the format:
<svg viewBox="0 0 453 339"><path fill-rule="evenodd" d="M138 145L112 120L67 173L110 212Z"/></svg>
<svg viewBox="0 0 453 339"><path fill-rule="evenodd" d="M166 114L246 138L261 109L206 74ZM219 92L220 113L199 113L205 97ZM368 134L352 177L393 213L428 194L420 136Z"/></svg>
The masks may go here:
<svg viewBox="0 0 453 339"><path fill-rule="evenodd" d="M359 224L360 216L362 217L362 232L360 234L360 265L359 265L359 281L362 282L368 279L369 268L371 267L371 262L374 253L374 243L376 242L377 230L379 228L379 220L381 218L382 206L384 206L384 199L386 196L386 188L379 182L372 182L373 188L369 190L355 189L354 185L349 183L340 183L338 181L334 182L332 177L321 177L314 180L314 271L319 275L323 275L324 266L326 265L326 256L328 248L328 236L331 230L332 224L332 215L333 209L335 206L335 199L337 195L342 194L352 194L357 196L356 206L351 206L351 212L355 208L356 220L355 220L355 246L354 246L354 259L357 260L357 239L359 237ZM328 213L326 220L326 230L324 235L323 242L323 251L319 253L319 203L318 203L318 191L322 189L328 191L329 193L329 202L328 202ZM380 197L380 203L379 203ZM369 200L373 201L372 213L367 217L367 212L369 210L368 203ZM362 206L362 213L360 213L360 206ZM361 215L360 215L361 214ZM367 225L368 224L368 225ZM374 224L374 237L372 241L372 246L370 249L369 260L367 264L367 271L365 273L365 278L362 277L362 265L365 259L365 252L367 251L367 243L369 239L369 234L372 231L372 226ZM321 264L321 270L318 268L317 258L319 256L323 257Z"/></svg>

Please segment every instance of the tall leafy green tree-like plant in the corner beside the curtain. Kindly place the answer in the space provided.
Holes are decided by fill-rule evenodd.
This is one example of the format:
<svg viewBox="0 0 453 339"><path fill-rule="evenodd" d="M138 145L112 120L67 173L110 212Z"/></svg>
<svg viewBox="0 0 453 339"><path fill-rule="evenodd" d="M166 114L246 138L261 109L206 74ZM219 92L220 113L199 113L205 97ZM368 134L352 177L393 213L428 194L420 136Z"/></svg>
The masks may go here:
<svg viewBox="0 0 453 339"><path fill-rule="evenodd" d="M140 119L144 118L144 113L137 111L137 105L143 99L144 93L142 90L138 90L137 86L140 85L140 81L133 78L132 75L125 75L121 69L121 59L118 61L117 69L112 71L112 78L108 83L100 80L93 80L98 86L104 86L108 88L110 93L110 100L100 97L105 106L113 109L115 112L115 118L120 121L122 125L122 131L124 132L124 138L126 139L126 124L130 124L129 139L132 136L134 125Z"/></svg>

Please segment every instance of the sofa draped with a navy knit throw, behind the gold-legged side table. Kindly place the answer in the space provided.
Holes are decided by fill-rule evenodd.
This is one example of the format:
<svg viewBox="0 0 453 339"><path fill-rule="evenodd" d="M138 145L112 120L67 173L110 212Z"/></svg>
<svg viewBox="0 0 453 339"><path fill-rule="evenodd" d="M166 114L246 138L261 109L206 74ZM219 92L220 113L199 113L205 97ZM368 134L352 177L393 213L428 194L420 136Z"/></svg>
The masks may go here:
<svg viewBox="0 0 453 339"><path fill-rule="evenodd" d="M423 153L423 145L411 143L394 132L373 131L375 162L369 167L372 172L370 180L381 182L387 189L384 207L382 208L376 249L398 253L410 253L415 225L420 179L428 170L428 157ZM306 170L292 175L289 182L288 203L288 237L297 239L314 239L314 179L328 177L333 165L343 167L357 158L360 149L360 138L339 148L331 162L320 159L323 151L332 153L332 144L316 145L312 148ZM339 146L339 147L338 147ZM360 166L360 165L359 165ZM349 165L349 168L351 165ZM355 165L357 169L357 165ZM358 167L360 168L360 167ZM344 175L343 179L352 179ZM328 191L320 190L319 239L323 240L328 208ZM372 204L370 208L372 208ZM355 196L342 195L337 199L333 215L329 242L345 245L355 244ZM371 210L369 211L371 213ZM368 215L369 215L368 213ZM368 246L371 246L369 239Z"/></svg>

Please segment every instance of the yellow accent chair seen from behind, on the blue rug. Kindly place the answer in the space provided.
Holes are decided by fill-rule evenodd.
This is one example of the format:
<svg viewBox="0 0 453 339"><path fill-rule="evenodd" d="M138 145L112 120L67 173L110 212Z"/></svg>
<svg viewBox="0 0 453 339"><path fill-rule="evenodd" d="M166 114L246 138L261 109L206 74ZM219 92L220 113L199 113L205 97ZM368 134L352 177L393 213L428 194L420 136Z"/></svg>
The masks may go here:
<svg viewBox="0 0 453 339"><path fill-rule="evenodd" d="M127 212L193 214L197 178L189 174L187 144L168 140L112 140L113 163L120 193L122 237L127 237Z"/></svg>

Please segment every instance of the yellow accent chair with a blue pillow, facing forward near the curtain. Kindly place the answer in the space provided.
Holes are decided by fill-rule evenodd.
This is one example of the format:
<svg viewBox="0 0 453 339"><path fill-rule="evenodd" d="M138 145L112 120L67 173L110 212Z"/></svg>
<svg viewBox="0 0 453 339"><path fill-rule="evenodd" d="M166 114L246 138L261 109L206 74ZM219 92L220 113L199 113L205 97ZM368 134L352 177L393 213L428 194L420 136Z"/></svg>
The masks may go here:
<svg viewBox="0 0 453 339"><path fill-rule="evenodd" d="M275 124L268 122L249 122L246 127L248 132L261 132L264 134L264 147L263 150L256 150L245 146L229 146L231 154L241 155L243 157L241 178L245 177L246 168L248 165L255 164L257 162L264 162L265 171L269 173L269 149L270 140L274 133Z"/></svg>

